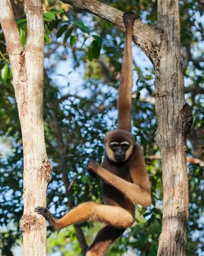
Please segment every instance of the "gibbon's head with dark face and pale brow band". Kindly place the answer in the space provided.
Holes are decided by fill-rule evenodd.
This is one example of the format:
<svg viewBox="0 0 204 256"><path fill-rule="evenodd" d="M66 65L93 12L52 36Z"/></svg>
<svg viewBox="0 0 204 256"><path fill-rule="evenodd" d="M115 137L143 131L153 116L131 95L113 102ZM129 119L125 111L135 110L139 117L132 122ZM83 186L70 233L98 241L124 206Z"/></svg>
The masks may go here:
<svg viewBox="0 0 204 256"><path fill-rule="evenodd" d="M126 130L115 129L106 133L106 155L114 162L126 161L133 152L133 135Z"/></svg>

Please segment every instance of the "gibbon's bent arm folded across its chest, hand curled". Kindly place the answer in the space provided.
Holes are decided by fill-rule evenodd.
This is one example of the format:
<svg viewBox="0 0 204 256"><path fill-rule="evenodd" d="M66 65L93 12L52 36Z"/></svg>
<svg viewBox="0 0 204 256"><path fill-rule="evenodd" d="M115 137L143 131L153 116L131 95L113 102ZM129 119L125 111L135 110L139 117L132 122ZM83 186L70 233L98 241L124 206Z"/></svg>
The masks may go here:
<svg viewBox="0 0 204 256"><path fill-rule="evenodd" d="M135 184L121 179L120 177L111 172L108 172L108 170L99 166L99 164L93 160L89 161L89 163L87 164L87 169L91 169L92 172L96 173L106 183L117 188L126 197L128 197L129 200L133 202L133 204L140 204L144 207L147 207L151 204L149 177L146 172L143 172L141 170L139 171L139 175L141 175L141 177L133 176L133 182L136 182ZM130 172L136 173L137 166L133 166L133 168L130 169Z"/></svg>

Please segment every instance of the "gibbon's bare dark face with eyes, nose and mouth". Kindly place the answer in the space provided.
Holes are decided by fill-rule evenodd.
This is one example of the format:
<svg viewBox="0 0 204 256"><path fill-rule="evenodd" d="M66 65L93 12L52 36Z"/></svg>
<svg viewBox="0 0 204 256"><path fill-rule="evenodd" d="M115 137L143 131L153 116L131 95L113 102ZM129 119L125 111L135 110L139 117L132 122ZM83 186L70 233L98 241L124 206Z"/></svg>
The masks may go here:
<svg viewBox="0 0 204 256"><path fill-rule="evenodd" d="M117 161L125 161L126 160L126 152L129 149L128 141L122 141L122 142L113 141L110 143L110 148L113 151L114 158Z"/></svg>

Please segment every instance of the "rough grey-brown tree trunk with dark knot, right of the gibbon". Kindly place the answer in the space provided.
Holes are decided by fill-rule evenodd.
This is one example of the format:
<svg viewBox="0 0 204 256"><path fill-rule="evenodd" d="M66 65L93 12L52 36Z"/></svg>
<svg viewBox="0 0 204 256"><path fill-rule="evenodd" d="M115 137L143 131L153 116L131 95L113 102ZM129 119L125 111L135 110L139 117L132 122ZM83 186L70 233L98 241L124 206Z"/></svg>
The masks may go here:
<svg viewBox="0 0 204 256"><path fill-rule="evenodd" d="M186 137L193 121L184 99L180 54L179 0L158 0L158 28L163 29L160 56L155 67L158 127L156 142L163 167L163 228L158 256L187 253L188 179Z"/></svg>

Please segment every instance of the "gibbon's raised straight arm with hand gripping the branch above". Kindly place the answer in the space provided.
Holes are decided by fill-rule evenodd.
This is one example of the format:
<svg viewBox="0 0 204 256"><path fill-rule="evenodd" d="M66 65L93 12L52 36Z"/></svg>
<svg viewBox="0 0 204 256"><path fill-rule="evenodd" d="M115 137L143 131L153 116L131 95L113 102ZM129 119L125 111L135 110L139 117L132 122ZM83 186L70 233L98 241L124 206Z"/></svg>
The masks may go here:
<svg viewBox="0 0 204 256"><path fill-rule="evenodd" d="M122 60L118 99L118 129L131 131L131 88L133 86L132 38L135 13L128 12L122 16L126 26L126 45Z"/></svg>

